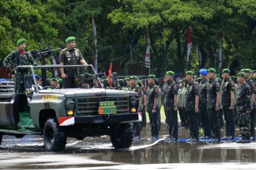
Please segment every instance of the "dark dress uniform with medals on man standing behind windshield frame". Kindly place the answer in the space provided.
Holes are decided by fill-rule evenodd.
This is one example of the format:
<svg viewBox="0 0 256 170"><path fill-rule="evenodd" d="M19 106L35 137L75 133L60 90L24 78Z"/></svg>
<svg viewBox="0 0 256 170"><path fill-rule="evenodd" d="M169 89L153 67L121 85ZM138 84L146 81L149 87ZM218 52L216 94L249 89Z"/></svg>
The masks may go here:
<svg viewBox="0 0 256 170"><path fill-rule="evenodd" d="M66 48L60 52L59 61L60 61L60 63L63 62L64 66L78 65L79 61L82 59L84 59L84 58L79 49ZM68 68L63 68L63 69L64 69L64 73L67 76L67 78L62 80L63 89L78 87L76 78L79 78L79 68L68 67Z"/></svg>

